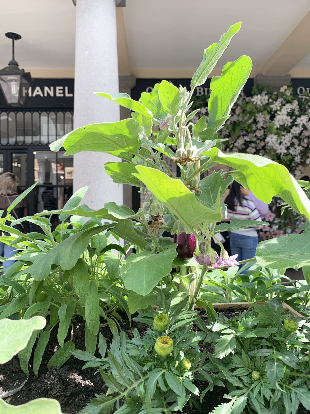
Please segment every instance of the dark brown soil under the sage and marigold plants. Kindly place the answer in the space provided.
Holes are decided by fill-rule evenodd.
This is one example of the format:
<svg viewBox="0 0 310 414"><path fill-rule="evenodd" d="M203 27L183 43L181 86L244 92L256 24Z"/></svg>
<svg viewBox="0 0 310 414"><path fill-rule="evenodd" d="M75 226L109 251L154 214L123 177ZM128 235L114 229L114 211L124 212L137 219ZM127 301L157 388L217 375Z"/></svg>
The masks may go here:
<svg viewBox="0 0 310 414"><path fill-rule="evenodd" d="M215 308L215 310L217 309ZM218 310L217 313L219 313ZM234 308L224 310L223 313L227 318L232 318L234 315ZM203 318L204 322L207 323L204 310L201 311L200 316ZM129 337L133 337L135 327L139 330L141 337L148 329L148 325L134 321L130 326L126 315L122 315L122 322L119 322L119 324ZM194 325L194 329L195 328ZM112 334L109 327L100 328L100 332L105 337L109 346L112 342ZM71 339L69 337L70 334L71 332L68 333L66 341ZM84 322L82 320L78 321L74 326L73 341L76 349L85 351ZM46 368L47 363L58 347L57 330L55 330L55 332L52 332L48 346L43 354L38 377L36 377L32 371L31 357L29 361L30 376L28 381L19 392L11 397L11 400L9 401L10 404L20 405L41 397L54 398L60 402L63 413L76 414L86 406L86 403L89 400L95 397L95 394L105 393L107 391L107 388L103 385L103 380L101 379L100 374L95 374L96 368L86 368L82 370L81 368L85 362L76 359L74 356L71 356L62 368L52 367L48 371ZM200 348L202 348L202 344L200 344ZM205 344L205 348L207 352L212 352L210 344ZM35 349L35 347L33 347L33 349ZM96 351L95 356L100 357L98 351ZM18 357L14 356L8 363L0 365L0 394L4 391L19 387L25 379L26 375L19 367ZM199 389L203 389L203 387L206 386L206 383L198 380L194 381L194 383ZM208 392L205 395L201 404L201 411L196 407L191 409L189 406L186 406L183 409L183 413L208 414L217 407L217 405L222 402L228 402L227 399L223 398L224 394L227 393L227 388L215 387L212 392ZM176 414L181 413L177 412ZM310 411L305 410L300 405L296 414L310 414Z"/></svg>

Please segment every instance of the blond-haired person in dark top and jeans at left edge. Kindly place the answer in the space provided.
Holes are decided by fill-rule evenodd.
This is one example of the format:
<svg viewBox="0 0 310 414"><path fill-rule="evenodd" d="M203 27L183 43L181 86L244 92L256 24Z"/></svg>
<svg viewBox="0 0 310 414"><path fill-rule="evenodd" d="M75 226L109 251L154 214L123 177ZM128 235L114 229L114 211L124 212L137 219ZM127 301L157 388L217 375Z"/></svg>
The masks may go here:
<svg viewBox="0 0 310 414"><path fill-rule="evenodd" d="M2 217L5 217L7 215L7 208L19 196L19 194L17 193L17 185L17 178L13 173L7 172L0 176L0 209L3 210ZM28 202L25 198L24 200L21 200L21 202L19 202L11 211L11 215L15 219L25 217L27 213ZM5 224L10 226L10 222L6 222ZM18 224L17 226L20 227L20 231L24 230L21 224ZM10 236L10 234L5 231L3 231L3 234L5 236ZM10 258L15 253L17 253L16 248L3 243L3 241L0 241L0 256ZM3 273L5 273L14 262L15 260L7 260L3 262Z"/></svg>

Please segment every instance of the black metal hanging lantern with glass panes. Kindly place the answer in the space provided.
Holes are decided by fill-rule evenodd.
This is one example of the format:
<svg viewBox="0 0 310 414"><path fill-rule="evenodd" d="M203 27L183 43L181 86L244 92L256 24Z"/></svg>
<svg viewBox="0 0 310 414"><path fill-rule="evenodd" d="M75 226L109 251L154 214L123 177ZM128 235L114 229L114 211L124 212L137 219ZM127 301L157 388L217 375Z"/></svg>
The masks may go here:
<svg viewBox="0 0 310 414"><path fill-rule="evenodd" d="M25 73L24 69L19 69L14 58L14 41L21 39L21 36L12 32L6 33L5 36L12 39L12 60L8 66L0 70L0 87L8 105L23 106L32 79L30 72Z"/></svg>

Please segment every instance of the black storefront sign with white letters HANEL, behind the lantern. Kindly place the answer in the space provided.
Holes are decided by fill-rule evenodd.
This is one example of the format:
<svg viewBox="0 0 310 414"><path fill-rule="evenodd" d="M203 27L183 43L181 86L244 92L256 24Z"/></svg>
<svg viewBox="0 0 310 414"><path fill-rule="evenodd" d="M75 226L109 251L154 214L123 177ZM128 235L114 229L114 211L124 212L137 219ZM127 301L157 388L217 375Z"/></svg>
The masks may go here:
<svg viewBox="0 0 310 414"><path fill-rule="evenodd" d="M33 79L22 108L73 108L74 79ZM5 102L0 92L0 108L12 108Z"/></svg>

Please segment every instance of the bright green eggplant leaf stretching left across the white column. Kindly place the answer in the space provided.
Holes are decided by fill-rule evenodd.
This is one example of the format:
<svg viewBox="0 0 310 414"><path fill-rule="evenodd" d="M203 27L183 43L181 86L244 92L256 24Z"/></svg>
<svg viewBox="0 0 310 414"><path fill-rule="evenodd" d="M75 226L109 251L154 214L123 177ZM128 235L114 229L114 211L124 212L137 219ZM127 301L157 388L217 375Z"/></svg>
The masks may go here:
<svg viewBox="0 0 310 414"><path fill-rule="evenodd" d="M86 125L69 132L59 141L66 150L66 155L82 151L107 152L131 161L131 154L138 155L141 146L139 135L143 135L143 132L137 121L128 118L118 122ZM50 149L58 151L59 144L58 141L52 142Z"/></svg>

